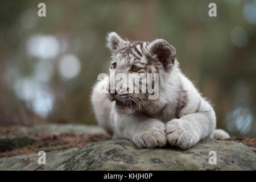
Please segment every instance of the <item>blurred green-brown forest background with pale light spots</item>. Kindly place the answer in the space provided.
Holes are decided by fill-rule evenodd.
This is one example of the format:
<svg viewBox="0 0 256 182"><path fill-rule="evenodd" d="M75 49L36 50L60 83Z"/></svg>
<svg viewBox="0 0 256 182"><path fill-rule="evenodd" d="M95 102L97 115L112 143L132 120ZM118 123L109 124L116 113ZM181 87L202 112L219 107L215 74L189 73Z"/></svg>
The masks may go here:
<svg viewBox="0 0 256 182"><path fill-rule="evenodd" d="M46 3L46 17L38 4ZM217 17L208 16L210 2ZM105 36L166 39L217 127L256 137L256 1L2 0L0 125L96 124L90 93L108 73ZM0 126L1 127L1 126Z"/></svg>

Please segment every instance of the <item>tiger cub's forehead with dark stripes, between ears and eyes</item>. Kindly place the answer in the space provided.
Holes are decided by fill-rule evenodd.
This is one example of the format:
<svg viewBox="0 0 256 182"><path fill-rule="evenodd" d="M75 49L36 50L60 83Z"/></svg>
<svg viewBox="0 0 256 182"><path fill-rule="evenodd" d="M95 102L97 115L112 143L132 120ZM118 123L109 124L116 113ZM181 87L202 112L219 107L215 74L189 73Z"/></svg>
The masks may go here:
<svg viewBox="0 0 256 182"><path fill-rule="evenodd" d="M147 42L131 42L119 51L117 59L126 61L128 64L133 64L136 60L142 60L148 45Z"/></svg>

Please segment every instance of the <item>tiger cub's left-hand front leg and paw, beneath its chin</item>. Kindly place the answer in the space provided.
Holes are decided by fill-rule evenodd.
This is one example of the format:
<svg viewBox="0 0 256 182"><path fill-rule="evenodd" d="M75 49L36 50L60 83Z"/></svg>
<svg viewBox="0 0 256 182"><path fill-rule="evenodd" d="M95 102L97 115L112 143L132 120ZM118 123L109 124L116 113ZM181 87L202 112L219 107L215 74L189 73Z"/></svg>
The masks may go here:
<svg viewBox="0 0 256 182"><path fill-rule="evenodd" d="M163 147L167 143L164 123L144 115L121 115L114 118L117 137L132 140L139 148Z"/></svg>

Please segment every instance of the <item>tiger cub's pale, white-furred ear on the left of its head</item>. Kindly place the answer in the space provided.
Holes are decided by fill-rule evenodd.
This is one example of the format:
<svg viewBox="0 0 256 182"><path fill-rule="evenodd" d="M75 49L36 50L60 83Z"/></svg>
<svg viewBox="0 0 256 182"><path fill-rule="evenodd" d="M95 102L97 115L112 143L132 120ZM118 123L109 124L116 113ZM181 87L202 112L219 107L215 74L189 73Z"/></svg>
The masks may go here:
<svg viewBox="0 0 256 182"><path fill-rule="evenodd" d="M125 39L119 36L115 32L111 32L106 37L106 46L112 51L113 53L117 53L125 46Z"/></svg>

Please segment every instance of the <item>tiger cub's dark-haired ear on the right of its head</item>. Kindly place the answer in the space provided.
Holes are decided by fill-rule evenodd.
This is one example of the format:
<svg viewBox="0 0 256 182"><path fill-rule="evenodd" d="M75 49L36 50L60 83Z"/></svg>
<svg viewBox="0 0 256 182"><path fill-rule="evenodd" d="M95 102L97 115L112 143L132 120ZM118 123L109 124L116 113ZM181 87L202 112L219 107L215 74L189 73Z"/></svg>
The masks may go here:
<svg viewBox="0 0 256 182"><path fill-rule="evenodd" d="M150 43L149 53L162 63L166 71L172 67L176 58L175 47L163 39L156 39Z"/></svg>

